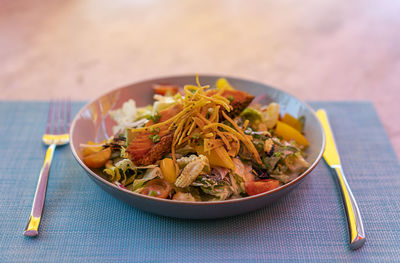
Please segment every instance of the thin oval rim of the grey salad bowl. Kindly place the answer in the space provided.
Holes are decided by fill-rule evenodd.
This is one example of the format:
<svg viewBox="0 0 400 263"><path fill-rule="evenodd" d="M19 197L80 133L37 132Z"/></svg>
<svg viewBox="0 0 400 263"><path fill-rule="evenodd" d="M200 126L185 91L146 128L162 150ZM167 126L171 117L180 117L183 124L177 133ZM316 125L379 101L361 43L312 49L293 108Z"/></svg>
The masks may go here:
<svg viewBox="0 0 400 263"><path fill-rule="evenodd" d="M125 192L125 193L128 194L128 195L132 195L133 197L136 197L136 198L146 198L146 199L150 199L150 200L156 200L156 201L159 201L159 202L165 202L165 203L176 204L176 205L185 204L185 205L194 205L194 206L198 206L198 205L210 205L210 204L212 204L212 205L223 205L223 204L228 204L228 203L238 203L238 202L241 202L241 201L247 201L247 200L250 200L250 199L256 199L256 198L259 198L259 197L261 197L261 196L271 195L271 194L273 194L273 193L275 193L275 192L278 192L278 191L283 190L283 189L286 188L286 187L289 187L289 186L291 186L291 185L294 185L294 184L299 183L301 180L303 180L303 179L306 177L306 175L308 175L308 174L317 166L317 164L318 164L319 161L321 160L322 154L323 154L323 152L324 152L324 150L325 150L325 132L324 132L324 130L323 130L323 128L322 128L322 125L321 125L321 123L320 123L319 121L318 121L318 125L319 125L320 132L321 132L321 135L322 135L322 147L321 147L321 149L320 149L320 152L319 152L318 155L317 155L317 158L316 158L316 159L314 160L314 162L310 165L310 167L309 167L306 171L304 171L302 174L300 174L296 179L290 181L290 182L287 183L287 184L281 185L281 186L279 186L278 188L275 188L275 189L270 190L270 191L268 191L268 192L264 192L264 193L260 193L260 194L252 195L252 196L247 196L247 197L243 197L243 198L228 199L228 200L221 200L221 201L203 201L203 202L199 202L199 201L177 201L177 200L172 200L172 199L162 199L162 198L157 198L157 197L153 197L153 196L142 195L142 194L135 193L135 192L129 191L129 190L127 190L127 189L118 187L117 185L115 185L115 184L113 184L113 183L107 181L106 179L102 178L101 176L99 176L98 174L96 174L95 172L93 172L90 168L88 168L88 167L83 163L83 161L79 158L78 153L75 151L75 147L73 147L73 145L72 145L72 142L73 142L73 132L72 132L72 131L73 131L74 128L75 128L75 124L76 124L76 122L77 122L77 120L78 120L78 117L81 116L82 112L85 111L85 110L88 108L89 105L91 105L92 103L98 101L100 98L102 98L102 97L104 97L104 96L107 96L107 95L109 95L109 94L111 94L111 93L116 92L117 90L122 90L122 89L125 89L125 88L129 88L129 87L131 87L131 86L133 86L133 85L138 85L138 84L142 84L142 83L146 83L146 82L154 82L154 83L157 83L157 81L161 81L161 80L162 80L162 81L165 81L165 80L167 80L167 79L175 79L175 78L189 78L189 77L195 78L195 76L196 76L196 74L185 74L185 75L167 75L167 76L161 76L161 77L157 77L157 78L148 78L148 79L144 79L144 80L140 80L140 81L133 82L133 83L128 84L128 85L121 86L121 87L119 87L119 88L112 89L112 90L110 90L110 91L108 91L108 92L106 92L106 93L104 93L104 94L102 94L102 95L96 97L95 99L90 100L88 103L86 103L86 104L78 111L78 113L75 115L75 117L74 117L74 119L73 119L73 121L72 121L72 123L71 123L70 131L69 131L69 136L70 136L70 149L71 149L71 151L72 151L73 156L75 157L75 159L77 160L77 162L80 164L80 166L82 166L83 169L85 169L86 172L87 172L89 175L91 175L91 176L93 177L93 179L96 179L96 180L98 180L98 181L100 181L100 182L102 182L102 183L104 183L104 184L106 184L106 185L108 185L108 186L110 186L110 187L113 187L113 188L115 188L116 190ZM204 77L204 78L220 78L221 76L219 76L219 75L211 75L211 74L199 74L199 79L200 79L200 80L201 80L202 77ZM258 85L265 86L265 87L267 87L267 88L269 88L269 89L273 89L273 90L276 90L276 91L279 91L279 92L286 93L288 96L290 96L290 97L292 97L293 99L295 99L295 100L301 102L301 103L315 116L315 118L318 120L318 117L317 117L317 115L316 115L314 109L313 109L310 105L308 105L308 104L305 103L304 101L298 99L297 97L293 96L292 94L290 94L290 93L288 93L288 92L286 92L286 91L277 89L277 88L275 88L275 87L269 86L269 85L267 85L267 84L264 84L264 83L261 83L261 82L258 82L258 81L253 81L253 80L244 79L244 78L238 78L238 77L231 77L231 76L226 75L226 74L224 74L223 77L226 78L226 79L228 79L228 80L229 80L229 79L232 79L232 80L238 80L238 81L251 82L251 83L254 83L254 84L258 84ZM128 98L127 98L127 99L128 99ZM134 99L134 98L133 98L133 99Z"/></svg>

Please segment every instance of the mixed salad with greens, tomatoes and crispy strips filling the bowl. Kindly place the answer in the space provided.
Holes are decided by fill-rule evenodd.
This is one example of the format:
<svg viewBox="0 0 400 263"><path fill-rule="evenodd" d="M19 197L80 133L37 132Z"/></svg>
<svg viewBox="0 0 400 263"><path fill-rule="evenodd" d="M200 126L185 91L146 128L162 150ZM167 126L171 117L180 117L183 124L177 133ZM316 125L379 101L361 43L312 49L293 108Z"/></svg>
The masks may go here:
<svg viewBox="0 0 400 263"><path fill-rule="evenodd" d="M121 188L158 198L217 201L256 195L309 167L304 118L220 78L213 88L155 85L154 103L110 112L114 136L82 144L83 162Z"/></svg>

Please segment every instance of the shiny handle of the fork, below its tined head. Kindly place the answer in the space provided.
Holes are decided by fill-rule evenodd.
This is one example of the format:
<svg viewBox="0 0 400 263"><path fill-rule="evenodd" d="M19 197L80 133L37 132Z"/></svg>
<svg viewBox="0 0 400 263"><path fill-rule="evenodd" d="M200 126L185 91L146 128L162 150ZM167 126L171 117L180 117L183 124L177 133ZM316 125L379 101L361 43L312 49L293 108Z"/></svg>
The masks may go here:
<svg viewBox="0 0 400 263"><path fill-rule="evenodd" d="M40 170L38 184L36 186L35 197L33 198L32 211L28 224L25 227L24 236L34 237L39 234L38 228L42 216L44 200L46 197L47 180L49 179L49 170L53 160L55 144L51 144L46 151L42 169Z"/></svg>

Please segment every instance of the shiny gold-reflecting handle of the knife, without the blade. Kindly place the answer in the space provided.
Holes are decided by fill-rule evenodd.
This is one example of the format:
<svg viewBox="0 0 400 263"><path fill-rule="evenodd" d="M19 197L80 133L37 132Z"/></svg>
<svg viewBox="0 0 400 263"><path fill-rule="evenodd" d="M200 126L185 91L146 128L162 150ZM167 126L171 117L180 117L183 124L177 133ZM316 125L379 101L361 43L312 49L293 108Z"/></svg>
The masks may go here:
<svg viewBox="0 0 400 263"><path fill-rule="evenodd" d="M358 249L365 243L364 226L362 223L360 211L358 210L357 202L354 199L350 186L347 183L341 165L332 165L337 182L339 184L340 192L342 193L342 200L346 210L347 224L350 233L350 248Z"/></svg>

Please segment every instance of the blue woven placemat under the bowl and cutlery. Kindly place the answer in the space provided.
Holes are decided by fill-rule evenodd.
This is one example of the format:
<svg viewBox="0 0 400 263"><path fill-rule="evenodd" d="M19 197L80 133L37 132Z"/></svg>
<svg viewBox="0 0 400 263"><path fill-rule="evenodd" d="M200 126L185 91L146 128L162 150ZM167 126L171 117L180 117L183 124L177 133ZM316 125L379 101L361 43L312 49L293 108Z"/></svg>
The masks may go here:
<svg viewBox="0 0 400 263"><path fill-rule="evenodd" d="M83 105L73 103L73 110ZM68 146L51 168L40 234L22 235L46 148L47 102L0 102L1 262L399 261L400 166L368 102L315 102L327 110L367 233L351 251L335 181L321 162L277 203L242 216L180 220L103 192Z"/></svg>

